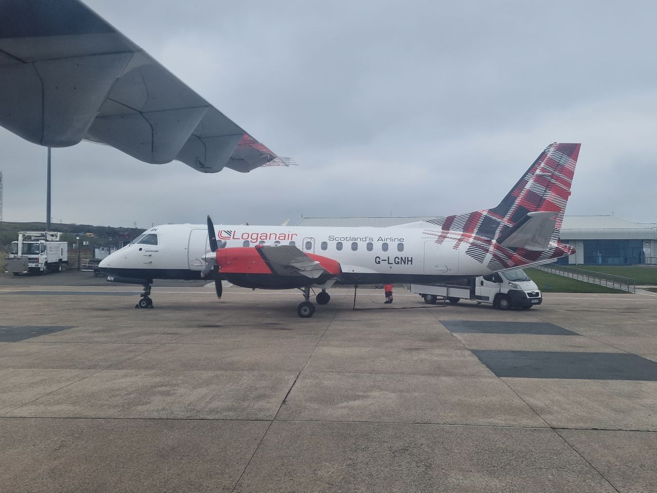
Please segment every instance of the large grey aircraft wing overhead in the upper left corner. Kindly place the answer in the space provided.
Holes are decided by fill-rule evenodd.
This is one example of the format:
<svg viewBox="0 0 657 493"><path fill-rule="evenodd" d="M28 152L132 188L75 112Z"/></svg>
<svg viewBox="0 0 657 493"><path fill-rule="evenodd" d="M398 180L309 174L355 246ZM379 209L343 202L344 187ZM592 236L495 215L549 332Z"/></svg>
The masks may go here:
<svg viewBox="0 0 657 493"><path fill-rule="evenodd" d="M204 173L288 166L79 0L0 0L0 126Z"/></svg>

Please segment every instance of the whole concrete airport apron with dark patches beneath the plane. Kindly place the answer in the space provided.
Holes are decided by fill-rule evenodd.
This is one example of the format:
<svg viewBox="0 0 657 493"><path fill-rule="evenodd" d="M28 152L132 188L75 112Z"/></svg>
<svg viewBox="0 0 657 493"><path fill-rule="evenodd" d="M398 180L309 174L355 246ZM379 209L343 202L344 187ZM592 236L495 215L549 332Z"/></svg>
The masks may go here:
<svg viewBox="0 0 657 493"><path fill-rule="evenodd" d="M138 292L0 276L0 491L657 491L657 293Z"/></svg>

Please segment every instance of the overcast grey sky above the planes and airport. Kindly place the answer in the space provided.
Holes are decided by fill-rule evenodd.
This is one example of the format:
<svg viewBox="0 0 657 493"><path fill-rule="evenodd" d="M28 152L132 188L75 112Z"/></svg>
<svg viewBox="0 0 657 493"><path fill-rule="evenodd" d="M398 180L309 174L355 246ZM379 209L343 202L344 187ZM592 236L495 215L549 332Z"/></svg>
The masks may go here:
<svg viewBox="0 0 657 493"><path fill-rule="evenodd" d="M657 4L87 0L299 166L200 174L53 149L55 222L276 224L495 206L581 142L567 215L657 222ZM45 220L46 149L0 128L4 219Z"/></svg>

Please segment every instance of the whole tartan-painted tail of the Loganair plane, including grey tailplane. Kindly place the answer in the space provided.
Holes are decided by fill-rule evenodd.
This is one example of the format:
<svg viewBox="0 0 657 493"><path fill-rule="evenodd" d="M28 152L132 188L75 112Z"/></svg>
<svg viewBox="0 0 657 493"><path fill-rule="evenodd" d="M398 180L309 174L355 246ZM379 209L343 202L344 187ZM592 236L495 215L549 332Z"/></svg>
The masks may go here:
<svg viewBox="0 0 657 493"><path fill-rule="evenodd" d="M468 241L466 254L482 263L491 254L493 270L574 253L558 240L580 147L556 142L546 147L494 208L427 221L441 227L438 242L449 238L458 247Z"/></svg>

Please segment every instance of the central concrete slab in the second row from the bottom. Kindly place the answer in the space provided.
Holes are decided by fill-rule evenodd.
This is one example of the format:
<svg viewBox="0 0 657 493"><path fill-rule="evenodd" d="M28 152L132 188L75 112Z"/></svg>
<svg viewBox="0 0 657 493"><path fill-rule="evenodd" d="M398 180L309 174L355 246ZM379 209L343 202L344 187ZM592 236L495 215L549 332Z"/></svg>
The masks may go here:
<svg viewBox="0 0 657 493"><path fill-rule="evenodd" d="M495 377L307 371L277 419L547 427Z"/></svg>

